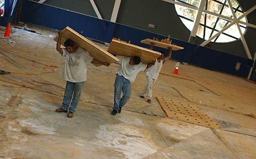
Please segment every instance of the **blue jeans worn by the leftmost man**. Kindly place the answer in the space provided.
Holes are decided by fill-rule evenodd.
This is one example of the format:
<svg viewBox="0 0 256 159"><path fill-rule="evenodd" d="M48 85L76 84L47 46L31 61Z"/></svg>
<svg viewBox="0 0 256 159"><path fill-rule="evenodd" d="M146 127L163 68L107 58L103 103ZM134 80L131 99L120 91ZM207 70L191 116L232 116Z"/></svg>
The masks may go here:
<svg viewBox="0 0 256 159"><path fill-rule="evenodd" d="M85 83L85 82L76 82L75 83L75 82L67 81L61 108L63 108L64 110L67 110L69 108L69 104L70 104L71 98L73 96L72 102L70 104L69 112L72 112L72 113L76 112L75 109L76 109L77 104L80 99L83 83Z"/></svg>

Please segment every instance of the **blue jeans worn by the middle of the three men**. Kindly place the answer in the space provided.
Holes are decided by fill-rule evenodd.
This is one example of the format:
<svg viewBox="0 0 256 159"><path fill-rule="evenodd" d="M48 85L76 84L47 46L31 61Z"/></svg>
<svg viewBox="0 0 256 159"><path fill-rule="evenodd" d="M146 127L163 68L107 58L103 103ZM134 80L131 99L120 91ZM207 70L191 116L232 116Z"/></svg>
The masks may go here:
<svg viewBox="0 0 256 159"><path fill-rule="evenodd" d="M123 97L121 93L123 91ZM113 110L119 110L119 107L123 107L130 98L131 84L130 81L123 76L116 77L114 81L114 108Z"/></svg>

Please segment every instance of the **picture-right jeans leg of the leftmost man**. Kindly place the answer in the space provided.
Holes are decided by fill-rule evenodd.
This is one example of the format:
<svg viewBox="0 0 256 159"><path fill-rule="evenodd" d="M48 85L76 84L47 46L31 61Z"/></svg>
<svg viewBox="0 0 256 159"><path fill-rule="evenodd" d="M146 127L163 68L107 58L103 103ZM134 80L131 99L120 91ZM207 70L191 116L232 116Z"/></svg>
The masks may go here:
<svg viewBox="0 0 256 159"><path fill-rule="evenodd" d="M75 113L75 109L77 107L77 104L79 103L79 99L81 96L81 90L83 87L83 83L85 82L77 82L75 83L75 87L74 87L74 96L72 99L72 102L70 104L70 108L69 108L69 112Z"/></svg>

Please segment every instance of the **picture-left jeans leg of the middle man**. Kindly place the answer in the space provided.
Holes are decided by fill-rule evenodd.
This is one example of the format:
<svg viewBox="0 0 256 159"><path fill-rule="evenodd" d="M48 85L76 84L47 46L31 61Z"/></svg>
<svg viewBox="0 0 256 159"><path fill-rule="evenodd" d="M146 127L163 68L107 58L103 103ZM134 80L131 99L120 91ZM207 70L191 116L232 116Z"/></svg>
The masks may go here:
<svg viewBox="0 0 256 159"><path fill-rule="evenodd" d="M114 81L114 107L113 110L119 110L119 104L121 101L121 93L122 93L122 87L123 87L123 82L124 82L124 77L123 76L118 76L116 77L116 80Z"/></svg>

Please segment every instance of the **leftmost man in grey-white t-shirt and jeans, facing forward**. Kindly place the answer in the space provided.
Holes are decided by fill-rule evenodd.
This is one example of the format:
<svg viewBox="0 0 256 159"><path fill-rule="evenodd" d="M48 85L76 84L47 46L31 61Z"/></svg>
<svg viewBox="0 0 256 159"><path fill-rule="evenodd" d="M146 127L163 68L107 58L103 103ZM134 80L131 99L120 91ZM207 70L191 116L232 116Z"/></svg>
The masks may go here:
<svg viewBox="0 0 256 159"><path fill-rule="evenodd" d="M79 103L83 83L87 78L87 63L97 63L105 66L109 66L109 63L94 59L88 53L88 51L82 49L81 47L76 47L74 41L71 39L67 39L64 43L66 48L61 49L60 41L61 31L59 31L59 39L56 49L60 52L62 57L66 57L63 79L66 80L67 83L62 106L59 109L56 109L55 112L67 113L67 110L69 109L67 118L72 118L75 113L77 104ZM73 99L71 102L72 96Z"/></svg>

